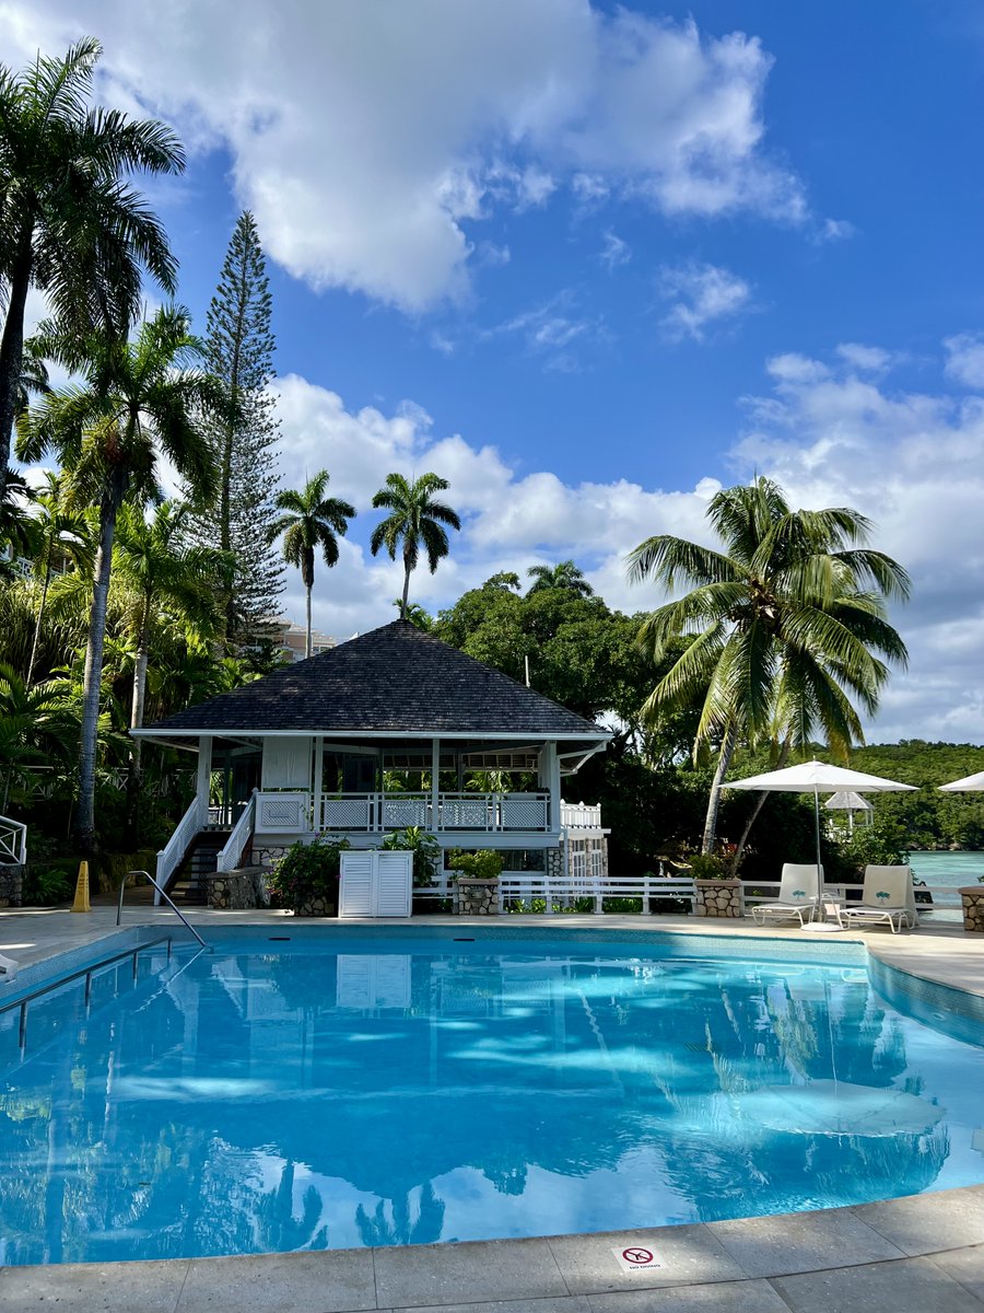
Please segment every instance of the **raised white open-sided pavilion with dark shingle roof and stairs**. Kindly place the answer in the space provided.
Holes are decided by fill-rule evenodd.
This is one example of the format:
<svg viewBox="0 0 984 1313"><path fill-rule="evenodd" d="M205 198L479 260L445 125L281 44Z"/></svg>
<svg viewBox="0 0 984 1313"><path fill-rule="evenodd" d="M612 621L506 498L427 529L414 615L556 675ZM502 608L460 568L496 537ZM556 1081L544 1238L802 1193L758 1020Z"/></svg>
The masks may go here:
<svg viewBox="0 0 984 1313"><path fill-rule="evenodd" d="M318 834L371 848L407 826L554 876L572 827L604 852L600 809L565 809L560 789L610 733L405 621L133 733L198 755L194 801L157 855L161 886L201 847L231 871Z"/></svg>

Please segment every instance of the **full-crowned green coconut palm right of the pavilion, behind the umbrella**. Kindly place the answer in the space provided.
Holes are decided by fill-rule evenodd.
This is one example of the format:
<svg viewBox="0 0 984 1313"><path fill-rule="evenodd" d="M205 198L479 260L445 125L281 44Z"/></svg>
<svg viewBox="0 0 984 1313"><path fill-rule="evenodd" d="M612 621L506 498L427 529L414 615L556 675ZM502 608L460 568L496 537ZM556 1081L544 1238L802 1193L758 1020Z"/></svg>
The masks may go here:
<svg viewBox="0 0 984 1313"><path fill-rule="evenodd" d="M886 599L907 599L909 576L863 546L870 521L857 511L791 511L771 479L724 488L707 508L724 545L715 551L670 534L647 538L628 557L632 582L693 588L643 624L655 660L681 635L693 641L643 706L661 713L701 705L694 752L719 742L702 851L714 848L720 789L740 739L806 746L820 726L845 755L863 742L851 702L874 714L888 668L908 654L886 620Z"/></svg>

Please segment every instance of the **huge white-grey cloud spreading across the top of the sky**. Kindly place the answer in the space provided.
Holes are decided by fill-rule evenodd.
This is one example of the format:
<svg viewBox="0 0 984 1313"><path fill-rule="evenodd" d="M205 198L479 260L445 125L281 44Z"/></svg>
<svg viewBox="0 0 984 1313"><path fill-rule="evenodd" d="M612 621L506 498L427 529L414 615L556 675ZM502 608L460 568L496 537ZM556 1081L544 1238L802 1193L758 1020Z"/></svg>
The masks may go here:
<svg viewBox="0 0 984 1313"><path fill-rule="evenodd" d="M314 288L420 311L468 288L492 213L642 200L803 223L765 147L771 59L743 33L585 0L92 0L108 98L223 148L268 253ZM75 0L7 0L5 55L80 34ZM569 193L568 193L569 194Z"/></svg>

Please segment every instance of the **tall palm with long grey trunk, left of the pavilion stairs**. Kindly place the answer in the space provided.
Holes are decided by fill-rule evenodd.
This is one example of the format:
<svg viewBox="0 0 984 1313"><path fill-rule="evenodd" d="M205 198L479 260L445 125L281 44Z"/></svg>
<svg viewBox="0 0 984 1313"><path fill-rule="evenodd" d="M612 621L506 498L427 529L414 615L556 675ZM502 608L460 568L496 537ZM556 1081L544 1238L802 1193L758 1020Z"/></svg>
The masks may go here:
<svg viewBox="0 0 984 1313"><path fill-rule="evenodd" d="M46 336L47 334L47 336ZM98 504L96 551L85 649L79 811L76 838L83 852L94 844L94 785L102 647L117 516L126 500L156 495L159 454L185 479L195 499L213 495L216 469L197 416L222 404L213 381L195 368L201 344L189 332L188 311L164 307L133 341L94 332L79 340L41 335L45 351L83 382L45 397L24 416L18 456L38 461L59 453L71 500Z"/></svg>

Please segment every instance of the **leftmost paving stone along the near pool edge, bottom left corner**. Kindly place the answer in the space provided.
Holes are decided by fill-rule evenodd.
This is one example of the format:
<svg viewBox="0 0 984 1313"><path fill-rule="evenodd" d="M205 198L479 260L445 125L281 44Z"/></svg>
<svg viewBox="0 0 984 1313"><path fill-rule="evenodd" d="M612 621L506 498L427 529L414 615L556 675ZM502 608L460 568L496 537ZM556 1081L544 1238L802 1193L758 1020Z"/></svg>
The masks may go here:
<svg viewBox="0 0 984 1313"><path fill-rule="evenodd" d="M0 1270L0 1309L59 1305L72 1313L174 1313L189 1262L63 1263Z"/></svg>

